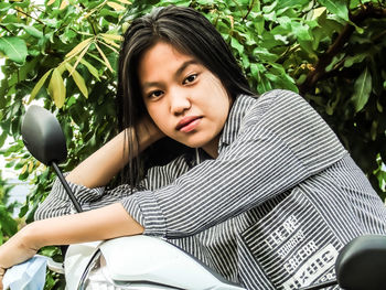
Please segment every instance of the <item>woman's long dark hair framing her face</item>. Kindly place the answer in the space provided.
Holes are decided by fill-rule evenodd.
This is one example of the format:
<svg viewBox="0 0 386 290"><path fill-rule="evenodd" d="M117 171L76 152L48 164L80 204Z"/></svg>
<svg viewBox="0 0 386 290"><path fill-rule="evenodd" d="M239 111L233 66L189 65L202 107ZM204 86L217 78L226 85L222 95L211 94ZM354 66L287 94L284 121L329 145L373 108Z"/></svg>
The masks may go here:
<svg viewBox="0 0 386 290"><path fill-rule="evenodd" d="M239 94L253 95L228 45L204 15L192 8L157 8L133 20L125 33L118 71L117 110L120 130L135 128L141 117L148 114L141 97L138 65L141 55L159 41L170 43L180 52L194 56L221 79L232 98ZM127 135L128 153L132 154L133 149L138 148L138 139L132 136L132 130L128 130ZM173 149L168 152L167 148ZM171 139L162 139L141 155L130 155L127 168L129 183L136 185L143 174L143 155L150 154L148 160L154 162L170 160L171 155L175 157L184 150L187 150L185 146Z"/></svg>

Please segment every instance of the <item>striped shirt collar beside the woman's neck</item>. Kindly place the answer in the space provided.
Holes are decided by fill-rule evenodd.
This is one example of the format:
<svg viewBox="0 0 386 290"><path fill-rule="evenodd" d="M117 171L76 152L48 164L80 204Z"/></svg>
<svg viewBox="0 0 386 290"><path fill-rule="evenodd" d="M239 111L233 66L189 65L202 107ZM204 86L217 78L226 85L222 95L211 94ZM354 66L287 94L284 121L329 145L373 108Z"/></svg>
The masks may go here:
<svg viewBox="0 0 386 290"><path fill-rule="evenodd" d="M255 98L247 95L239 95L235 99L219 138L218 151L221 151L224 144L228 146L236 139L242 127L243 118L255 100Z"/></svg>

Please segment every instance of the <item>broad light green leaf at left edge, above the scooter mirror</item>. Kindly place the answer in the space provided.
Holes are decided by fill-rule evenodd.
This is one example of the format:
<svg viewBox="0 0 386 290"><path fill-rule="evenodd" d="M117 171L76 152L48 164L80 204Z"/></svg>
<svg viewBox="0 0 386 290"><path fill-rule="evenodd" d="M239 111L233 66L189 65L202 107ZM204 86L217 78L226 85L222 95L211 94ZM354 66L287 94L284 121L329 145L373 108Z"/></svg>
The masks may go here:
<svg viewBox="0 0 386 290"><path fill-rule="evenodd" d="M15 36L2 36L0 39L0 51L19 64L23 64L28 55L25 42Z"/></svg>

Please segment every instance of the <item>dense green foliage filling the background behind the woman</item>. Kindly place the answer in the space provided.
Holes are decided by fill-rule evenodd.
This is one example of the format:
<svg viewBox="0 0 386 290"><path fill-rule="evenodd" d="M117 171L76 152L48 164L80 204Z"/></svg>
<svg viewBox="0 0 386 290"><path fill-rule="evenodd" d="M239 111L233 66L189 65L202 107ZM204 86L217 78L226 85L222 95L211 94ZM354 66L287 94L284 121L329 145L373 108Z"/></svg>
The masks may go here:
<svg viewBox="0 0 386 290"><path fill-rule="evenodd" d="M214 23L257 93L301 93L385 197L384 1L46 0L37 6L32 0L4 0L0 148L7 136L13 138L3 148L7 167L36 185L20 216L32 219L54 178L20 141L25 107L37 101L55 112L68 138L63 169L73 169L117 132L116 69L122 31L132 19L169 3L193 7ZM56 278L50 279L54 287Z"/></svg>

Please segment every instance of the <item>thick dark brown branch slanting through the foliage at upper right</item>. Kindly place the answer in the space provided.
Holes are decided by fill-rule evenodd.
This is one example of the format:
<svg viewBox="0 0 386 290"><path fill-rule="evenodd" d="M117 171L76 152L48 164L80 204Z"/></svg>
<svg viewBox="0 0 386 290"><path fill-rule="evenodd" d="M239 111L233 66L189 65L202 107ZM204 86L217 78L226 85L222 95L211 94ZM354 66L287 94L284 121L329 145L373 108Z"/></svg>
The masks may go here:
<svg viewBox="0 0 386 290"><path fill-rule="evenodd" d="M358 25L367 18L385 18L386 9L374 7L373 3L368 2L361 7L360 11L350 15L350 20ZM315 65L315 69L311 71L304 83L299 86L300 94L304 95L308 92L311 92L318 80L320 80L325 74L325 67L331 63L332 58L342 52L344 45L349 42L351 35L355 31L354 25L347 23L344 29L341 31L336 40L332 43L329 50L319 57L319 62Z"/></svg>

